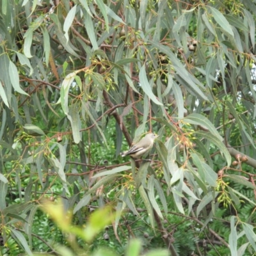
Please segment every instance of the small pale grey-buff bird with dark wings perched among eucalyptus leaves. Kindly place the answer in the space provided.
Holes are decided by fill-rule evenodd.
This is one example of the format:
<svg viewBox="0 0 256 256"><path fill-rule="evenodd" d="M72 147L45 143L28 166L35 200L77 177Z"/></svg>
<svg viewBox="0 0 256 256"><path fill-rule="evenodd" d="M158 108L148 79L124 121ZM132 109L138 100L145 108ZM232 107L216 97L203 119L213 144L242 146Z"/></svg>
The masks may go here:
<svg viewBox="0 0 256 256"><path fill-rule="evenodd" d="M142 138L138 143L133 145L129 150L121 152L120 155L131 156L132 158L140 158L141 156L147 154L154 145L154 140L158 137L157 134L148 133L144 138Z"/></svg>

